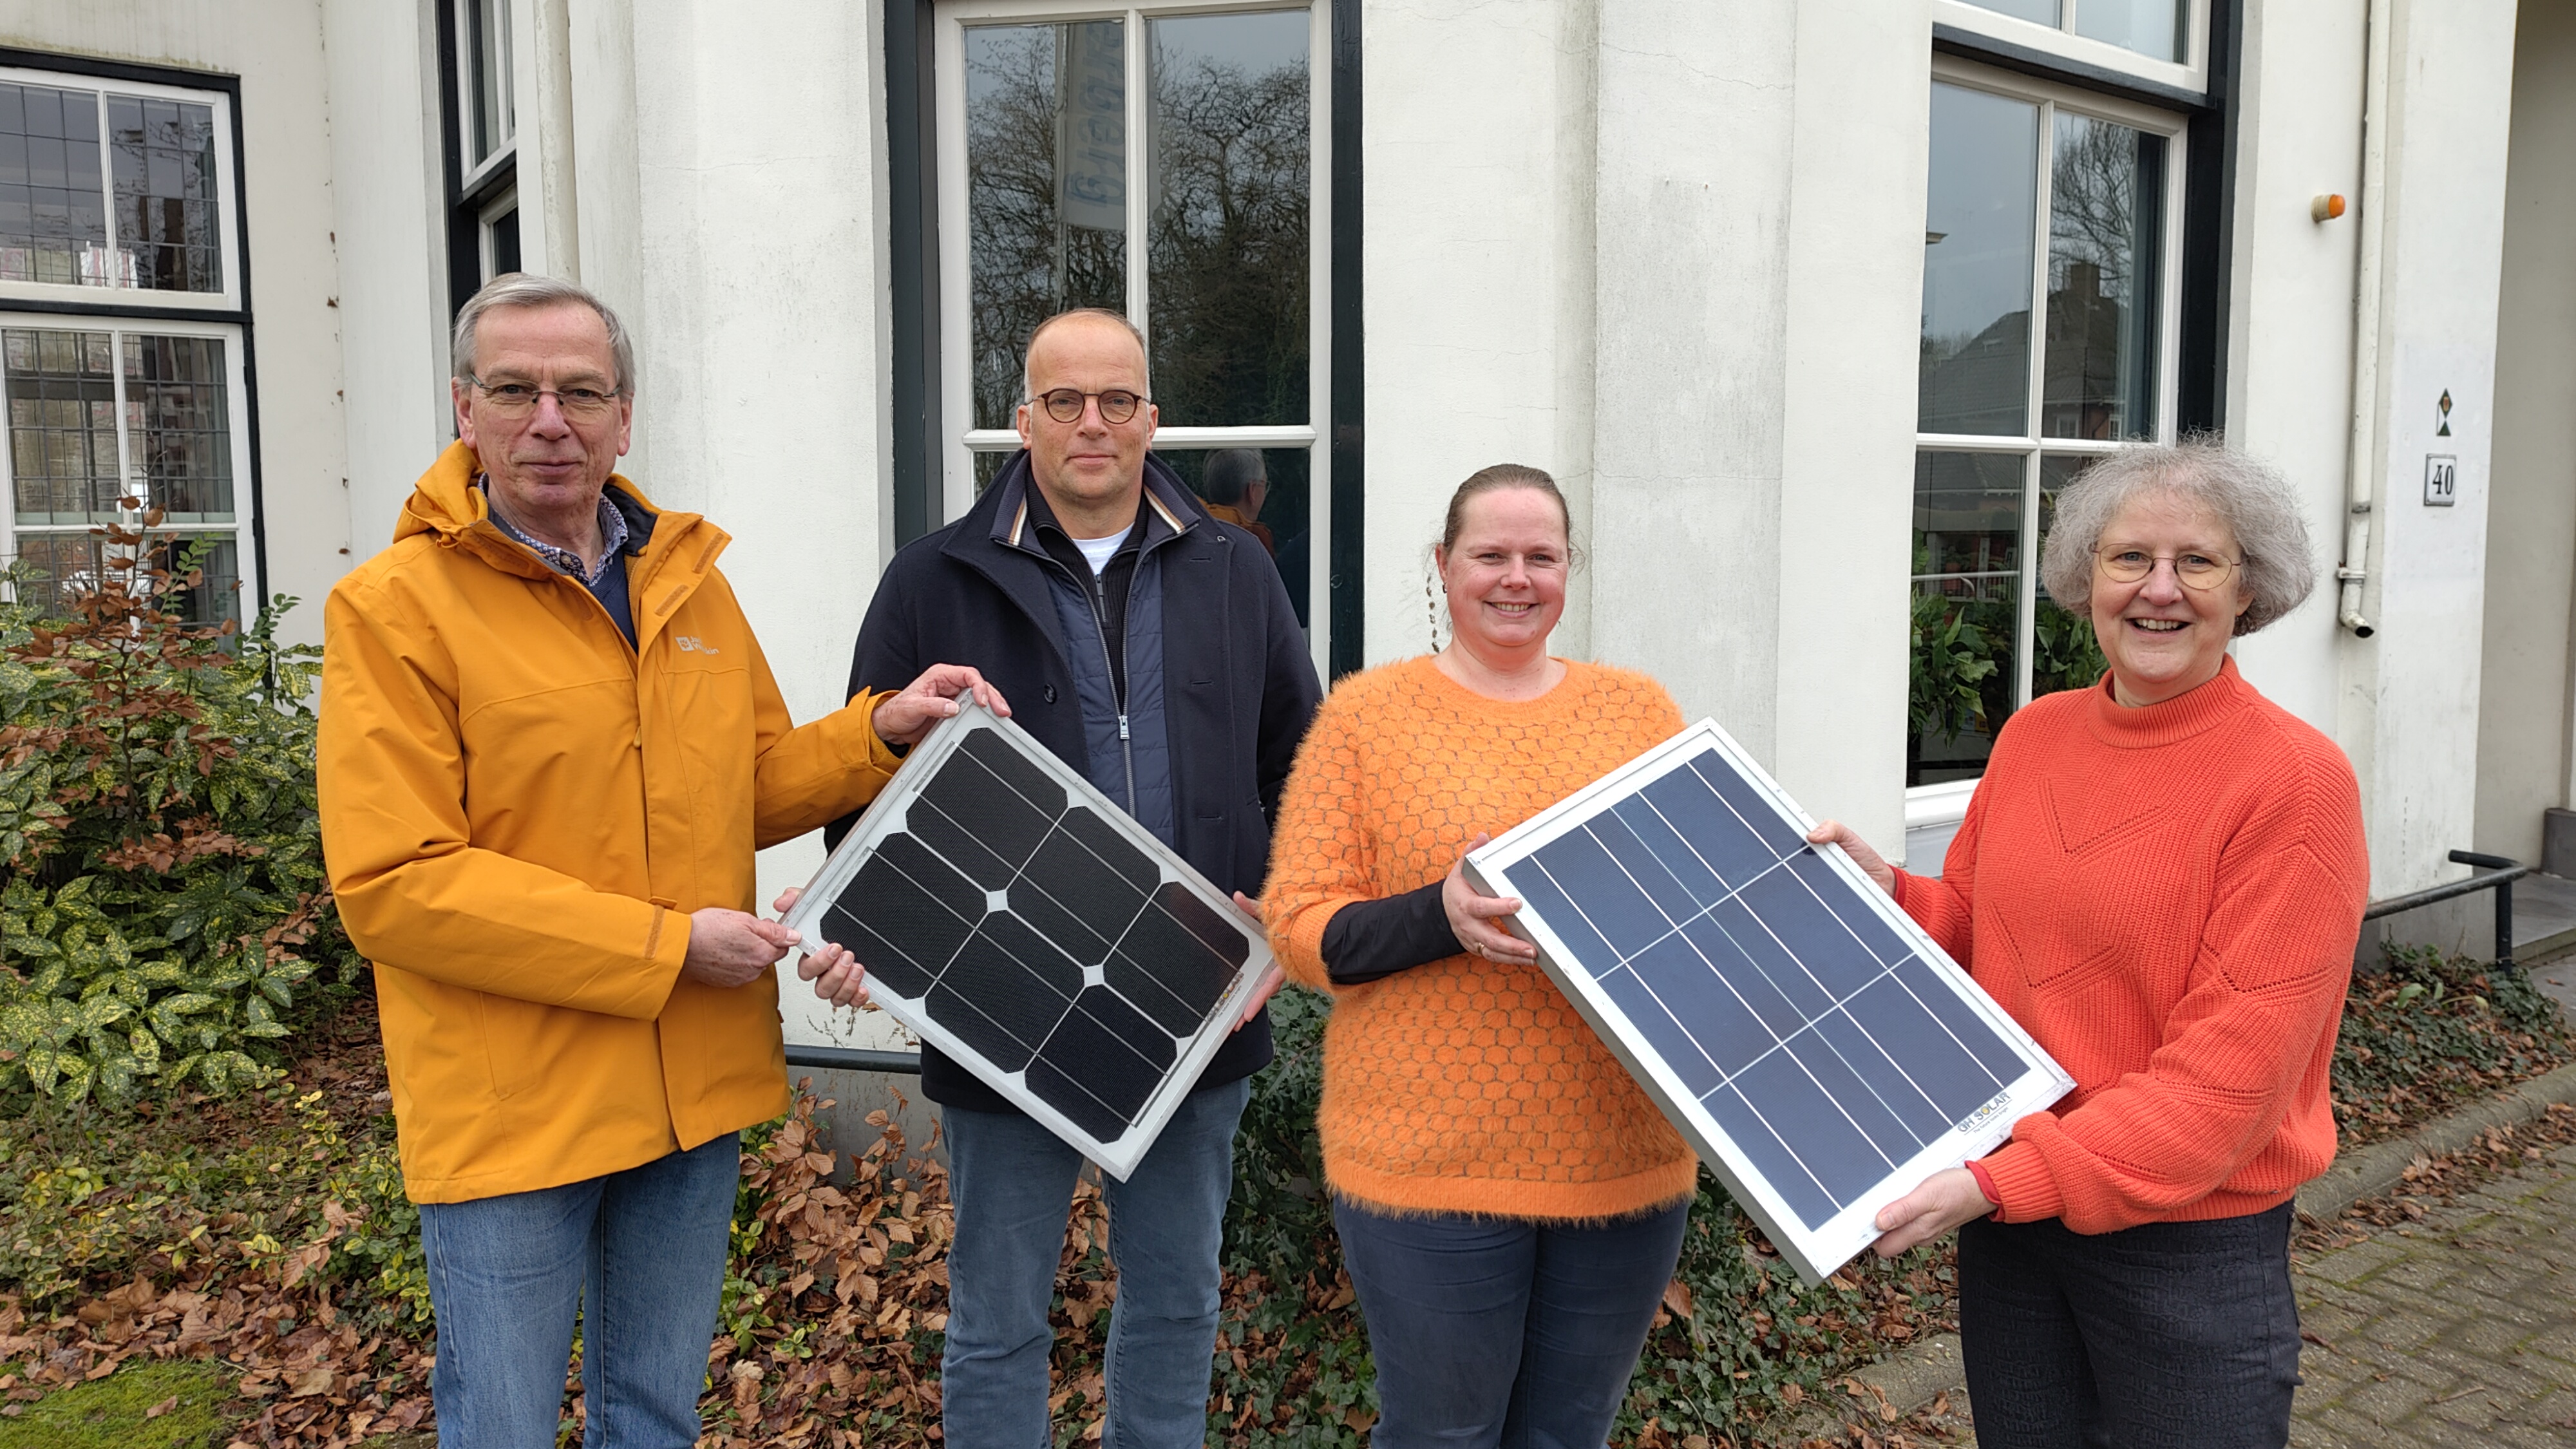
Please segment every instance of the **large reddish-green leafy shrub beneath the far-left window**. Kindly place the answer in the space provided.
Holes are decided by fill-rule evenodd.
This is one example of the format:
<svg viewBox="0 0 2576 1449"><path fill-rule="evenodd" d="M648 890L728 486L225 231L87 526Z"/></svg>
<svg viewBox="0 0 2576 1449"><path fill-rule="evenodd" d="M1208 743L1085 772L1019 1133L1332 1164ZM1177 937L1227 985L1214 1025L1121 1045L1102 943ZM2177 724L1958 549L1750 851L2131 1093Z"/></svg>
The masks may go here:
<svg viewBox="0 0 2576 1449"><path fill-rule="evenodd" d="M296 990L358 959L322 871L312 683L278 596L242 634L149 526L70 619L0 603L0 1101L270 1078ZM33 593L33 590L23 590Z"/></svg>

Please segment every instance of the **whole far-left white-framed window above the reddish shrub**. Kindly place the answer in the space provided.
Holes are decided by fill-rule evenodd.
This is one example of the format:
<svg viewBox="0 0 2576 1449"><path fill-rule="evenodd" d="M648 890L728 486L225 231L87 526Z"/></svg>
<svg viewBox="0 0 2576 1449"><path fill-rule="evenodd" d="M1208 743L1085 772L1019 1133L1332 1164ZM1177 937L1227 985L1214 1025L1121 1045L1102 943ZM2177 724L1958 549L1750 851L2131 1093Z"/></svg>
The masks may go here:
<svg viewBox="0 0 2576 1449"><path fill-rule="evenodd" d="M250 441L222 90L0 70L0 469L18 590L59 606L103 526L162 513L196 621L240 619Z"/></svg>

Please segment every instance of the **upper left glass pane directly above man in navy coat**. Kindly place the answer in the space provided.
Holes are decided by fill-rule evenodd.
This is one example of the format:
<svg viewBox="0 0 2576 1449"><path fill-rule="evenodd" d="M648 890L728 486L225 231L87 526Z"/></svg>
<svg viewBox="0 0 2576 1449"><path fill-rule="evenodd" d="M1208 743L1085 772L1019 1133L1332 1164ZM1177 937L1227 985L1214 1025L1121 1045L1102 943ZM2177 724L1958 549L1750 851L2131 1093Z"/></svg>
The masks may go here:
<svg viewBox="0 0 2576 1449"><path fill-rule="evenodd" d="M1038 322L1126 309L1123 34L1121 21L966 31L976 428L1010 428Z"/></svg>

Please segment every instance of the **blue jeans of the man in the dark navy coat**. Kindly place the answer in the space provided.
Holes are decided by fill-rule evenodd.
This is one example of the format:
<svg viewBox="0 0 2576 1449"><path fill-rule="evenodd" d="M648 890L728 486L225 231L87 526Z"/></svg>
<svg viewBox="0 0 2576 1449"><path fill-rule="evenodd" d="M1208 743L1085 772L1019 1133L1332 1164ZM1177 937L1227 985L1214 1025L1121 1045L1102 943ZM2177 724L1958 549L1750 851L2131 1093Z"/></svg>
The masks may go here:
<svg viewBox="0 0 2576 1449"><path fill-rule="evenodd" d="M1200 1449L1216 1364L1216 1250L1234 1191L1234 1124L1252 1083L1193 1091L1110 1207L1108 1423L1103 1449ZM948 1351L940 1426L958 1449L1046 1449L1046 1359L1064 1217L1082 1155L1018 1111L945 1109Z"/></svg>

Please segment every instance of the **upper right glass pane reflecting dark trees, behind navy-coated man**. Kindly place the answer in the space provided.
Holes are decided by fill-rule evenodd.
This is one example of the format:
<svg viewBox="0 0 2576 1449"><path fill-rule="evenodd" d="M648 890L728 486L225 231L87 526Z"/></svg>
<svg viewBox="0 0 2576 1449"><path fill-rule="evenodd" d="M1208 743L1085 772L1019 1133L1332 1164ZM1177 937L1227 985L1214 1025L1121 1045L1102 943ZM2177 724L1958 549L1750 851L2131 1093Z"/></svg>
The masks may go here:
<svg viewBox="0 0 2576 1449"><path fill-rule="evenodd" d="M1188 15L1146 34L1146 297L1162 420L1306 423L1309 15Z"/></svg>

